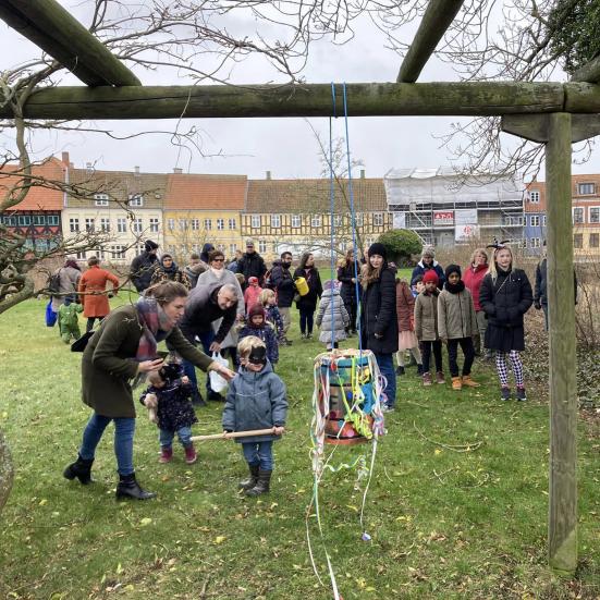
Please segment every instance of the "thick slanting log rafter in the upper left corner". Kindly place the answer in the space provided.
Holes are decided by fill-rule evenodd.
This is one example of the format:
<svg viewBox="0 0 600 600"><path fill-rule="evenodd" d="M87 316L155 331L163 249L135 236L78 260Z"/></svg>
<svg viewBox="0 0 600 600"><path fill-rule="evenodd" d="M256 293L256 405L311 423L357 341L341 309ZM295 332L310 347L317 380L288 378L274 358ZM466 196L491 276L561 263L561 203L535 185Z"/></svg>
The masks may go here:
<svg viewBox="0 0 600 600"><path fill-rule="evenodd" d="M0 17L90 86L139 79L56 0L3 0Z"/></svg>

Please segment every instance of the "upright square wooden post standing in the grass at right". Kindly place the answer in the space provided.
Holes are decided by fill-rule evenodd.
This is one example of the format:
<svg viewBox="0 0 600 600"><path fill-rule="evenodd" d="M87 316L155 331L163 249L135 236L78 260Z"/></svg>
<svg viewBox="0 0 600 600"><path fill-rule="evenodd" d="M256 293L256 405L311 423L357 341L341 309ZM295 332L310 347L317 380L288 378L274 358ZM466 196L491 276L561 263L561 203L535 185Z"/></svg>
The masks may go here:
<svg viewBox="0 0 600 600"><path fill-rule="evenodd" d="M548 308L550 333L549 561L577 566L577 357L573 282L571 114L548 117Z"/></svg>

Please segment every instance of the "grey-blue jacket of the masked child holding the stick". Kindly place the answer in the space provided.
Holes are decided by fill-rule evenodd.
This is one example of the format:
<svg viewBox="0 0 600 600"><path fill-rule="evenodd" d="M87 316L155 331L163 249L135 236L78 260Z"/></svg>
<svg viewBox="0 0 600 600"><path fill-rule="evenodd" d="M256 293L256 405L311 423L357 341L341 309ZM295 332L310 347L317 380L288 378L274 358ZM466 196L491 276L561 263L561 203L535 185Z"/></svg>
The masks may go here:
<svg viewBox="0 0 600 600"><path fill-rule="evenodd" d="M273 372L270 363L267 362L258 372L242 367L230 381L222 420L225 431L284 427L286 414L285 385ZM257 436L235 438L235 441L269 442L279 438L280 436L274 434Z"/></svg>

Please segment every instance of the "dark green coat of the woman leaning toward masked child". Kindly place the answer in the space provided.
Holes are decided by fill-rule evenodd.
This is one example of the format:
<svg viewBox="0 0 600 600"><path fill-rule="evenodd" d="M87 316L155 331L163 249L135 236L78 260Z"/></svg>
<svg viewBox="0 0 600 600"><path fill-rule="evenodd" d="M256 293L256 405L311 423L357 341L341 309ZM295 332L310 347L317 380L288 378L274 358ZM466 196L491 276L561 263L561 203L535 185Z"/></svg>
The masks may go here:
<svg viewBox="0 0 600 600"><path fill-rule="evenodd" d="M130 380L137 375L135 356L142 333L136 307L126 305L113 310L90 338L82 359L82 395L98 415L135 417ZM212 360L189 344L179 328L167 340L183 358L208 370Z"/></svg>

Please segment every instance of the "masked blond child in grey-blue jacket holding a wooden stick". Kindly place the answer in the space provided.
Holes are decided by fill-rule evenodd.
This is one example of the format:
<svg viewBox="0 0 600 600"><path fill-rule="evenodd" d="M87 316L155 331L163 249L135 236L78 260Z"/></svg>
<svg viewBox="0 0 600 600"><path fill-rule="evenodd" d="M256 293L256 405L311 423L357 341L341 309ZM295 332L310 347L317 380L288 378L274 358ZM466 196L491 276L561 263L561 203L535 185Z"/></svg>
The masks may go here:
<svg viewBox="0 0 600 600"><path fill-rule="evenodd" d="M273 470L273 441L285 430L285 385L273 372L265 342L248 335L237 345L240 372L231 380L223 411L223 432L271 429L272 434L235 438L242 443L250 476L240 483L246 495L268 492Z"/></svg>

